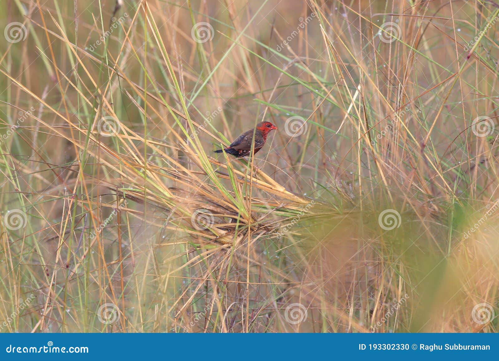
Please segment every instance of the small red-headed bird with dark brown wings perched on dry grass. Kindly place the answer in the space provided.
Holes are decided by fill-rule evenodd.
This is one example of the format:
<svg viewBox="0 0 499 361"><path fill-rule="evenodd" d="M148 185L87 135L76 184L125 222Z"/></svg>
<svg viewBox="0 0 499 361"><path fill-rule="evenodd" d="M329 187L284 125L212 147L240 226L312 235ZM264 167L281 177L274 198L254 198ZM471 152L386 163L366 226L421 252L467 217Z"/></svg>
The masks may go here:
<svg viewBox="0 0 499 361"><path fill-rule="evenodd" d="M222 153L224 150L226 153L229 153L236 158L243 158L250 154L251 145L253 143L253 133L254 133L254 146L253 146L253 155L259 151L265 141L267 140L268 133L277 129L275 125L270 122L259 122L256 124L256 129L250 129L243 134L241 134L235 141L231 143L231 145L225 149L217 149L215 153Z"/></svg>

